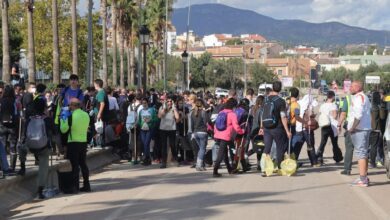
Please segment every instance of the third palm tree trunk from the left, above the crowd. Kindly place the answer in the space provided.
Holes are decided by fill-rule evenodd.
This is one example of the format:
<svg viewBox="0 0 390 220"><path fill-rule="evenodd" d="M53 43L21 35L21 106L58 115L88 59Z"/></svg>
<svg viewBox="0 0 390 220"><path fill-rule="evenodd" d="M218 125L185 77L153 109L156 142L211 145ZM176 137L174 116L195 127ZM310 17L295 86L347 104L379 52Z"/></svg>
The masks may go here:
<svg viewBox="0 0 390 220"><path fill-rule="evenodd" d="M60 83L60 47L58 43L58 8L57 0L52 0L53 26L53 83Z"/></svg>

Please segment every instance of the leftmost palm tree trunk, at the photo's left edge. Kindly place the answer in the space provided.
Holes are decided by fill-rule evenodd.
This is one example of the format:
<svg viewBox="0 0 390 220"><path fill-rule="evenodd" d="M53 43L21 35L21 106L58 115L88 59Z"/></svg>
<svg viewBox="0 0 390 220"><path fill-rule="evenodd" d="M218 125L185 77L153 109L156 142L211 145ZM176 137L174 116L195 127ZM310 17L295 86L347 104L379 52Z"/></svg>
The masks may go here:
<svg viewBox="0 0 390 220"><path fill-rule="evenodd" d="M10 52L9 52L9 31L8 31L8 0L1 1L1 28L3 34L3 81L10 81Z"/></svg>

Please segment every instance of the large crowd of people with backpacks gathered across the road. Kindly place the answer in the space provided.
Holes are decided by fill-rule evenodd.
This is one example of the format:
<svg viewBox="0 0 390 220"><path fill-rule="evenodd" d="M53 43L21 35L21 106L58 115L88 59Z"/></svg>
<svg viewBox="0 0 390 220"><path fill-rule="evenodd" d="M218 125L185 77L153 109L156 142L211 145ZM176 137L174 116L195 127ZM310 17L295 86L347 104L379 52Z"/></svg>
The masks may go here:
<svg viewBox="0 0 390 220"><path fill-rule="evenodd" d="M352 185L368 186L368 165L382 166L384 160L385 92L374 91L370 100L362 83L355 81L338 105L336 94L329 91L317 111L320 103L311 92L301 97L298 88L290 88L285 99L281 91L281 82L275 81L259 96L248 89L245 97L238 97L232 89L227 97L215 97L210 92L103 88L100 79L84 91L77 75L70 76L68 86L60 84L53 91L47 91L44 84L1 85L1 170L5 176L25 175L26 155L34 154L39 165L38 196L43 199L50 154L70 161L72 192L77 193L91 191L86 162L89 148L111 146L124 160L144 166L159 164L161 169L172 163L190 163L197 172L211 167L213 177L221 177L222 161L229 174L247 172L252 166L262 173L265 157L280 169L288 148L291 158L298 161L305 143L310 165L320 167L330 139L335 163L344 160L341 174L351 174L355 151L360 176ZM344 156L338 145L342 128ZM317 129L321 142L316 148ZM254 154L256 165L248 159Z"/></svg>

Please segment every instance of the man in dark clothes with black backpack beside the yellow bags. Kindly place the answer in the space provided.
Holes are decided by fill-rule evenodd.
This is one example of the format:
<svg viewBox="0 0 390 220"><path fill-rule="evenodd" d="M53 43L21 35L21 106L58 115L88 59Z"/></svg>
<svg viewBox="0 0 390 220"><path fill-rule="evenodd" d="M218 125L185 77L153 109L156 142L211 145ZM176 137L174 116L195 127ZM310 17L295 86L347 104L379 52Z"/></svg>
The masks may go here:
<svg viewBox="0 0 390 220"><path fill-rule="evenodd" d="M288 147L288 141L291 139L291 132L288 128L286 102L279 96L282 90L282 83L275 81L272 84L272 92L264 104L262 120L264 127L264 153L269 156L271 153L272 142L276 143L276 162L280 168L284 153Z"/></svg>

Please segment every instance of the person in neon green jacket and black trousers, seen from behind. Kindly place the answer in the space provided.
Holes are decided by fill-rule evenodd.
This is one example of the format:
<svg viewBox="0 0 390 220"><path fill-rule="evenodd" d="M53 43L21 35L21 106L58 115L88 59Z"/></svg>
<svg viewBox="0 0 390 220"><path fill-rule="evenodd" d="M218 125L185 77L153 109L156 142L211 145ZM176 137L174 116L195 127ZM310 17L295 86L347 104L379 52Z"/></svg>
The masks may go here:
<svg viewBox="0 0 390 220"><path fill-rule="evenodd" d="M74 192L90 192L89 169L87 166L87 132L89 115L81 110L81 101L72 98L69 102L71 115L61 118L61 132L68 138L67 158L72 165ZM75 123L77 122L77 123ZM79 188L79 172L83 175L83 187Z"/></svg>

